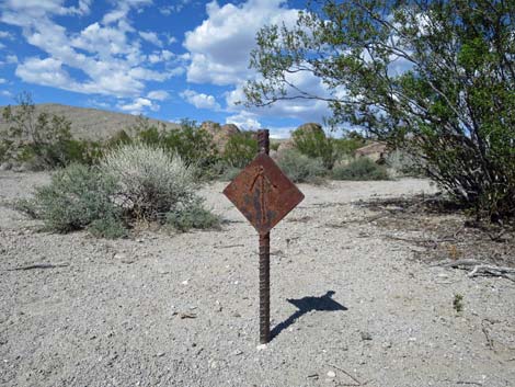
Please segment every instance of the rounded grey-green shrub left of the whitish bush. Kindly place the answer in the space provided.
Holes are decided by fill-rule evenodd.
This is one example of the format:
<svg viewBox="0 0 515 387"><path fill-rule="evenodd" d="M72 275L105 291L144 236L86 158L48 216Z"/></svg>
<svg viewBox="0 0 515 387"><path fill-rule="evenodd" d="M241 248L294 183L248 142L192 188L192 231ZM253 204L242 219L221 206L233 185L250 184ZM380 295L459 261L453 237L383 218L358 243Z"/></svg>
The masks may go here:
<svg viewBox="0 0 515 387"><path fill-rule="evenodd" d="M99 169L70 164L54 173L50 184L36 189L34 201L20 206L42 219L46 229L67 232L99 219L121 221L122 213L112 201L115 189L114 180Z"/></svg>

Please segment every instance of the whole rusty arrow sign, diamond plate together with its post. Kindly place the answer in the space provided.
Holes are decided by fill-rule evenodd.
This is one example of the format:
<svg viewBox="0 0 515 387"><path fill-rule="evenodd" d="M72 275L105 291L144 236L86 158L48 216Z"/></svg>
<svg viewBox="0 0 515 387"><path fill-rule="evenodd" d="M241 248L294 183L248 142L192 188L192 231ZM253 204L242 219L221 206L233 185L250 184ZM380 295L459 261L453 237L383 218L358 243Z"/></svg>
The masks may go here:
<svg viewBox="0 0 515 387"><path fill-rule="evenodd" d="M268 130L258 130L260 152L224 194L260 235L260 342L270 332L270 230L304 200L304 194L268 157Z"/></svg>

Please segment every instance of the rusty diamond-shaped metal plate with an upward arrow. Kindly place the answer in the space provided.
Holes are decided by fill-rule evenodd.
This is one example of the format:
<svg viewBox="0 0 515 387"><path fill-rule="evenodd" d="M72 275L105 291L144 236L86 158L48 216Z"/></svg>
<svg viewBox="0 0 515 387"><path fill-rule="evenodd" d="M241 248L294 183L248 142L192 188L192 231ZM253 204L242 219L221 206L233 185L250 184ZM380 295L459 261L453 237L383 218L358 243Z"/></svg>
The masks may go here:
<svg viewBox="0 0 515 387"><path fill-rule="evenodd" d="M224 194L260 235L268 232L304 200L304 194L265 153L258 155Z"/></svg>

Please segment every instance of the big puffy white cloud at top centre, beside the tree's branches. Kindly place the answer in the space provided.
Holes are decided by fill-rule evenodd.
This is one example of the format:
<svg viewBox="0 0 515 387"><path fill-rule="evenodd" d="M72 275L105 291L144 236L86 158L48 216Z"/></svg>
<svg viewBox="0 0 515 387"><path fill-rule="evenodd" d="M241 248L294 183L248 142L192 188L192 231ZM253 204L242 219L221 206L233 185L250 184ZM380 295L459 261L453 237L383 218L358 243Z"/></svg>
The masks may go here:
<svg viewBox="0 0 515 387"><path fill-rule="evenodd" d="M284 0L249 0L241 5L220 7L216 1L209 2L208 18L186 33L184 46L191 53L187 80L224 86L252 76L248 65L260 27L283 22L291 25L297 19L297 10L284 8Z"/></svg>

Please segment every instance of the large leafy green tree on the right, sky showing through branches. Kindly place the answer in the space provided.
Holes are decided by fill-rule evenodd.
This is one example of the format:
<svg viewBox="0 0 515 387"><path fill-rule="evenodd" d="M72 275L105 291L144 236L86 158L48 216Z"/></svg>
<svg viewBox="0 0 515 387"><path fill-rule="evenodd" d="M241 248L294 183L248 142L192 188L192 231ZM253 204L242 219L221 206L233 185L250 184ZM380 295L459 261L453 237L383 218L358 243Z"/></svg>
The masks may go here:
<svg viewBox="0 0 515 387"><path fill-rule="evenodd" d="M421 156L426 173L493 220L515 215L515 2L319 0L258 36L247 103L320 99ZM323 95L295 84L319 78Z"/></svg>

